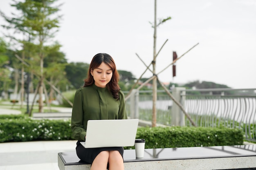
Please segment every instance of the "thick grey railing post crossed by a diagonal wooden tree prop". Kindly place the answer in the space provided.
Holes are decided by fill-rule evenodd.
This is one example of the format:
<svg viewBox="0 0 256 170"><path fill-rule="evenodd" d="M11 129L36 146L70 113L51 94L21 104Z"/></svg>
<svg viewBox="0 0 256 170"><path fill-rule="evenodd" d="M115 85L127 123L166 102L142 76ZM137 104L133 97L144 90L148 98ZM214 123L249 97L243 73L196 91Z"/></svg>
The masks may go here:
<svg viewBox="0 0 256 170"><path fill-rule="evenodd" d="M175 87L172 90L173 97L182 104L184 107L186 88ZM173 102L172 106L172 125L173 126L185 126L185 117L180 107Z"/></svg>

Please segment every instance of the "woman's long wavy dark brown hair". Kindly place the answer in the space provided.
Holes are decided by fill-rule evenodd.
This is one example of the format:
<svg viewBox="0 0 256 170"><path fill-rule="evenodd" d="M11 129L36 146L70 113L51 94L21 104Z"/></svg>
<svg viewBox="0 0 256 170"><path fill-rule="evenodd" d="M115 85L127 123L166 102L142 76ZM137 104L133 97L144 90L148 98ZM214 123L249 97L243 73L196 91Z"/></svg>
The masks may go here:
<svg viewBox="0 0 256 170"><path fill-rule="evenodd" d="M120 87L118 84L119 73L116 69L116 64L113 58L109 54L98 53L94 55L94 57L92 58L91 64L89 66L87 78L83 80L84 81L83 87L91 86L92 84L94 84L94 79L91 75L91 70L93 71L94 68L97 68L99 65L101 65L102 62L107 64L112 69L112 78L110 82L107 84L108 90L112 93L112 96L115 99L119 99L119 95L118 95L120 91Z"/></svg>

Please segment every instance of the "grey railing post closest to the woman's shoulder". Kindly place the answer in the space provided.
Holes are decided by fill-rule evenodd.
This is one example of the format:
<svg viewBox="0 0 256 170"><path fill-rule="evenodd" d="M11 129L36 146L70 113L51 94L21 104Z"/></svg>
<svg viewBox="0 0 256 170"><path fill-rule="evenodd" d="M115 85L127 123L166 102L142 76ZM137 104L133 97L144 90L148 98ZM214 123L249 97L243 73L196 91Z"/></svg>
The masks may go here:
<svg viewBox="0 0 256 170"><path fill-rule="evenodd" d="M130 118L139 119L139 91L132 89L130 95Z"/></svg>

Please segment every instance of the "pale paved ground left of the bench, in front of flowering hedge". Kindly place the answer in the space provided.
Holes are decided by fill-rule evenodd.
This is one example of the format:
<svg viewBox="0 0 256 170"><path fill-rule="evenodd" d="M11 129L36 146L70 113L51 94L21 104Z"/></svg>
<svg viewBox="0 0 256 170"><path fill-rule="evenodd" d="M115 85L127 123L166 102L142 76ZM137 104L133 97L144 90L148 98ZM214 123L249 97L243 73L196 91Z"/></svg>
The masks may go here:
<svg viewBox="0 0 256 170"><path fill-rule="evenodd" d="M75 148L73 140L0 143L0 170L59 170L58 152Z"/></svg>

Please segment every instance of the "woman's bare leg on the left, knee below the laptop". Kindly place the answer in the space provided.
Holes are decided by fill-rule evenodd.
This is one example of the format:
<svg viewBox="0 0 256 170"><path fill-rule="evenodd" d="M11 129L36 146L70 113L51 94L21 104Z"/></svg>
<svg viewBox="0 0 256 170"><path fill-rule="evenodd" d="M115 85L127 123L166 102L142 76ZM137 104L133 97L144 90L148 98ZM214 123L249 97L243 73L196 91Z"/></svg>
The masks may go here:
<svg viewBox="0 0 256 170"><path fill-rule="evenodd" d="M108 165L109 151L102 151L92 162L90 170L106 170Z"/></svg>

